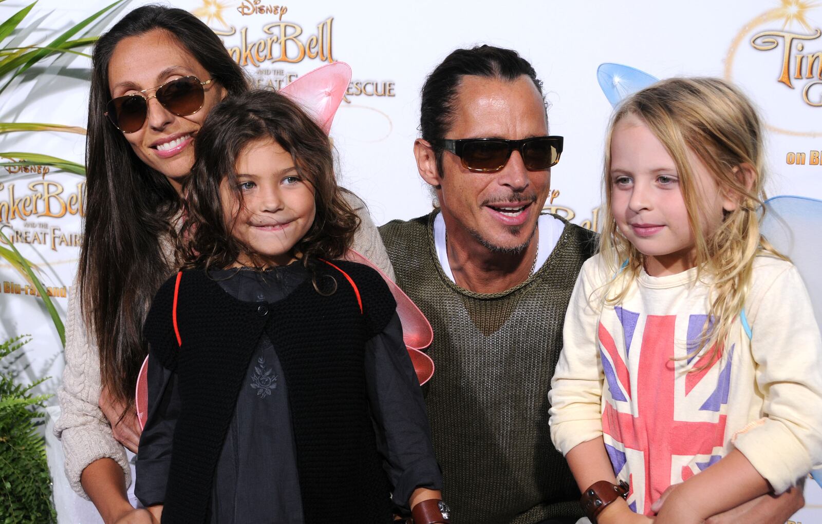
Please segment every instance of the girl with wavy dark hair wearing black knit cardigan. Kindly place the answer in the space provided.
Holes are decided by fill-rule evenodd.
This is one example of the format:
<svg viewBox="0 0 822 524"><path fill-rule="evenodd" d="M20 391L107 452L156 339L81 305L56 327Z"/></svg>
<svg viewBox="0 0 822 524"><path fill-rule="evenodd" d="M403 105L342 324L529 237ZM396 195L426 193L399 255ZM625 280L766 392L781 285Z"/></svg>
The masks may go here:
<svg viewBox="0 0 822 524"><path fill-rule="evenodd" d="M358 225L328 136L270 91L206 119L183 270L155 296L136 495L163 522L390 522L441 476L396 304L339 260Z"/></svg>

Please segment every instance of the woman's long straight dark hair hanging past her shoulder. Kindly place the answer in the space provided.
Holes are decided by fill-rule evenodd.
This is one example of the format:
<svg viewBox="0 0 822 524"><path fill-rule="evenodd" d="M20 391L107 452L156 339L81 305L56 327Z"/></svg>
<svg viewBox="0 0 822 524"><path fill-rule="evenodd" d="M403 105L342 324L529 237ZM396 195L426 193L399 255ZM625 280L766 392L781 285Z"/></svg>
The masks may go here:
<svg viewBox="0 0 822 524"><path fill-rule="evenodd" d="M146 310L168 277L160 239L173 229L179 196L163 173L145 165L104 116L109 61L117 44L150 30L178 39L229 94L248 89L242 69L212 30L182 9L138 7L101 36L92 57L86 140L86 216L80 255L80 291L90 340L99 348L102 384L127 406L145 343Z"/></svg>

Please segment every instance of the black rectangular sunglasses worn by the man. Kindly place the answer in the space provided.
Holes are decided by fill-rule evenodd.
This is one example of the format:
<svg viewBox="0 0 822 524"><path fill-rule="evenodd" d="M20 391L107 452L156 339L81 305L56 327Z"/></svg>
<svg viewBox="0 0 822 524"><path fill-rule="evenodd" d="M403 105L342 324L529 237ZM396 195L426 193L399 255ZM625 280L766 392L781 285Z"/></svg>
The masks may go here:
<svg viewBox="0 0 822 524"><path fill-rule="evenodd" d="M431 143L457 155L463 167L473 172L497 172L505 168L514 150L520 151L525 168L529 171L539 171L556 165L562 154L561 136L535 136L523 140L443 139L432 140Z"/></svg>

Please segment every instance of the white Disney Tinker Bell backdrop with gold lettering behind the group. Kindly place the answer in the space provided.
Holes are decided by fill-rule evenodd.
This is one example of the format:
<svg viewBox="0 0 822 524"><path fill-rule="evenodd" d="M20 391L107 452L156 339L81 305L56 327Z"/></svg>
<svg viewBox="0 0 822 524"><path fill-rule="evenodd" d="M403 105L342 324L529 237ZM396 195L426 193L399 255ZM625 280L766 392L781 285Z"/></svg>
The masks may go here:
<svg viewBox="0 0 822 524"><path fill-rule="evenodd" d="M2 2L0 19L29 3ZM39 0L5 44L47 45L108 3ZM76 36L98 35L143 3L125 2ZM566 144L561 163L552 169L547 207L574 223L598 229L603 136L612 112L597 83L603 62L658 78L710 75L736 82L767 122L769 194L822 198L822 4L817 2L165 3L199 16L263 89L278 90L327 62L349 63L353 78L331 136L340 181L367 202L376 223L431 209L412 154L419 90L450 51L486 43L519 51L544 82L551 132L565 136ZM85 128L89 72L88 57L73 53L31 67L0 94L0 122ZM39 153L83 163L85 136L76 131L0 134L0 155ZM0 223L8 225L3 232L37 264L65 318L82 240L84 177L47 166L0 169ZM0 259L0 340L18 334L31 338L16 362L21 379L50 376L39 389L53 393L64 365L61 342L35 288ZM59 489L61 469L55 467L53 475ZM809 485L807 492L808 507L794 518L822 522L820 490Z"/></svg>

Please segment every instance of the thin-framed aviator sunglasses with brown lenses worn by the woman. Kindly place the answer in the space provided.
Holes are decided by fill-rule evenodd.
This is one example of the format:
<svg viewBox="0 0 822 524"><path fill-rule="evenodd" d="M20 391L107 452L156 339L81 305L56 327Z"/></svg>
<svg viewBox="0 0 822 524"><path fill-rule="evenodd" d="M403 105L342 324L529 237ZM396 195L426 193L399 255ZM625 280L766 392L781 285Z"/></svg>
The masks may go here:
<svg viewBox="0 0 822 524"><path fill-rule="evenodd" d="M105 115L123 133L140 131L149 114L149 100L154 98L169 112L178 117L187 117L203 107L203 85L210 83L211 80L201 82L196 76L175 78L156 87L109 100ZM155 94L146 98L143 93L150 90L154 90Z"/></svg>

